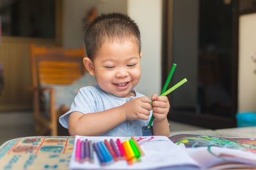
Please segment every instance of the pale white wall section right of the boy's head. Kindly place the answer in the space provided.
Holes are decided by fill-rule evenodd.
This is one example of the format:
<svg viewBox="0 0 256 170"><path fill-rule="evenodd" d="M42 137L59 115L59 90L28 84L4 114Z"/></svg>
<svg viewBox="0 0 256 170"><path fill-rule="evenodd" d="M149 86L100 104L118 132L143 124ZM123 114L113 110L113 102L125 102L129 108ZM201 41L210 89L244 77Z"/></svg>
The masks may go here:
<svg viewBox="0 0 256 170"><path fill-rule="evenodd" d="M161 92L162 1L128 0L127 9L141 31L141 81L136 90L151 97Z"/></svg>

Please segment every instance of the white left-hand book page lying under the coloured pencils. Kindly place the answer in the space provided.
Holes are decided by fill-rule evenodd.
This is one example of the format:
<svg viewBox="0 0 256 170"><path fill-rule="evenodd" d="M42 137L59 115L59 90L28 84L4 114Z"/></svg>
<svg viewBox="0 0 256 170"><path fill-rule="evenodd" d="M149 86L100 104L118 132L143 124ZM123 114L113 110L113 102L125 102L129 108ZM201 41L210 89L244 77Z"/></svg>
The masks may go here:
<svg viewBox="0 0 256 170"><path fill-rule="evenodd" d="M165 136L143 136L135 137L140 144L141 150L145 153L141 157L140 162L134 162L132 165L128 165L126 160L118 160L112 162L107 166L100 166L96 153L94 152L94 162L76 162L75 152L76 145L72 152L72 158L70 162L70 169L156 169L160 167L174 167L174 166L191 166L198 167L195 160L191 159L182 148L176 146L170 139ZM92 140L93 143L98 141L104 141L107 139L113 139L116 141L116 137L92 137L92 136L76 136L77 139ZM129 137L119 137L120 141L129 140Z"/></svg>

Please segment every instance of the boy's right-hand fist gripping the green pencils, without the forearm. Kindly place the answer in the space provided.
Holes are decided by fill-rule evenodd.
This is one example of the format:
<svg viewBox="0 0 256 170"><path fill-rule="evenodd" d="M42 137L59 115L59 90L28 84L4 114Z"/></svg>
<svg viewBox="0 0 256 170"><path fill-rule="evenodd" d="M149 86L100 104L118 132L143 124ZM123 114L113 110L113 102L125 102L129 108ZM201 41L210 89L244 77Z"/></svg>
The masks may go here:
<svg viewBox="0 0 256 170"><path fill-rule="evenodd" d="M170 110L170 103L166 96L157 96L153 94L151 97L154 121L163 121Z"/></svg>

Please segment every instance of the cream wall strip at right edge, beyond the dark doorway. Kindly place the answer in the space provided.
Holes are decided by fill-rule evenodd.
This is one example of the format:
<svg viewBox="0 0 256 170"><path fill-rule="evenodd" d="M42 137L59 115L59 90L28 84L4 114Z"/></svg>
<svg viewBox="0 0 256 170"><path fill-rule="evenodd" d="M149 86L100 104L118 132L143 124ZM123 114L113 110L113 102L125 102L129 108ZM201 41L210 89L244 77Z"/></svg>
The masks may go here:
<svg viewBox="0 0 256 170"><path fill-rule="evenodd" d="M256 111L256 13L239 17L238 111Z"/></svg>

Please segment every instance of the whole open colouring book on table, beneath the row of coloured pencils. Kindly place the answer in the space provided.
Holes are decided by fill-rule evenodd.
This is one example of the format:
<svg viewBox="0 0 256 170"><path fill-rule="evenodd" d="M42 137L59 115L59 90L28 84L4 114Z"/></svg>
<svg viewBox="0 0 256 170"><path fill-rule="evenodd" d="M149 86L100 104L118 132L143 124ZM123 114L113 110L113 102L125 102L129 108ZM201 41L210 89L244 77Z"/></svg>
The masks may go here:
<svg viewBox="0 0 256 170"><path fill-rule="evenodd" d="M217 138L193 134L179 134L166 138L164 136L136 137L141 150L145 153L140 162L127 164L126 160L118 160L100 166L94 152L94 162L77 162L76 142L92 140L93 143L107 139L119 138L120 141L129 137L93 137L76 136L70 160L70 169L225 169L234 167L256 167L256 140L237 138Z"/></svg>

